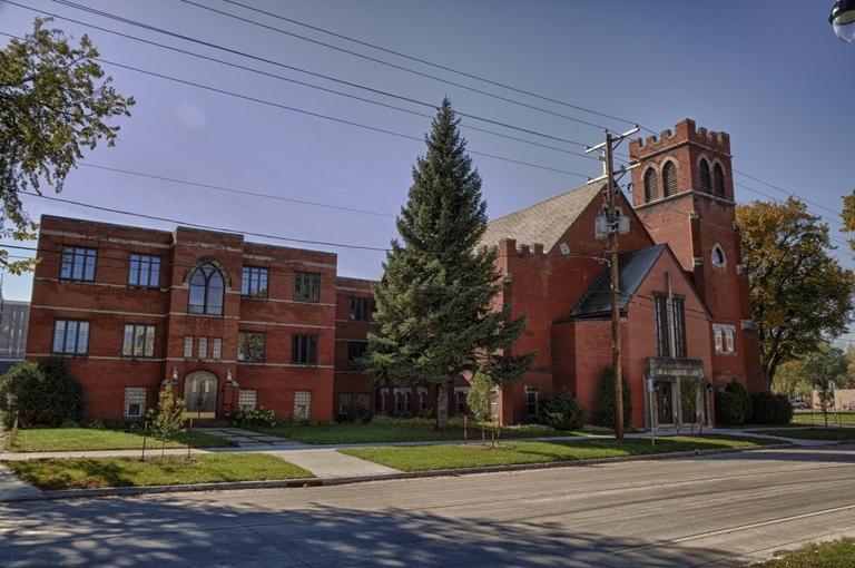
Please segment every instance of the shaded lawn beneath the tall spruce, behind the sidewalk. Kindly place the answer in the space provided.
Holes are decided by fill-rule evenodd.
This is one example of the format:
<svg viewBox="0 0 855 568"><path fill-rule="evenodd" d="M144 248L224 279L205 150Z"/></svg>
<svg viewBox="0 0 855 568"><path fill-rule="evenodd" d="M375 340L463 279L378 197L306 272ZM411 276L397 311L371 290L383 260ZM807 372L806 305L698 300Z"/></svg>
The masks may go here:
<svg viewBox="0 0 855 568"><path fill-rule="evenodd" d="M462 425L452 423L450 430L436 431L433 429L433 422L426 420L401 420L393 424L294 424L276 428L258 427L248 430L313 444L463 441ZM584 434L584 432L562 432L540 424L502 428L502 440ZM468 435L469 440L481 440L481 430L470 424ZM490 440L489 431L487 439Z"/></svg>

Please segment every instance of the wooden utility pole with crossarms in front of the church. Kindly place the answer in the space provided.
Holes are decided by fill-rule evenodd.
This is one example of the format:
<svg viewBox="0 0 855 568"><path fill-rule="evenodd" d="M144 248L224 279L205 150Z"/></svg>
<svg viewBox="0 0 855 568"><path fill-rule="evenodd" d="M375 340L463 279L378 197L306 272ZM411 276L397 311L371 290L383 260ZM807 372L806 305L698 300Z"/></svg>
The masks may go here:
<svg viewBox="0 0 855 568"><path fill-rule="evenodd" d="M620 369L620 272L618 271L618 233L628 233L629 224L621 222L617 213L617 188L615 184L615 164L612 161L612 147L627 136L633 135L639 130L638 126L628 133L612 137L611 133L606 130L606 141L598 144L592 148L586 148L586 154L601 149L603 151L603 161L606 169L606 199L608 205L607 229L609 236L609 248L611 248L611 369L615 372L615 438L623 439L623 373ZM601 217L597 221L597 237L602 235L603 222Z"/></svg>

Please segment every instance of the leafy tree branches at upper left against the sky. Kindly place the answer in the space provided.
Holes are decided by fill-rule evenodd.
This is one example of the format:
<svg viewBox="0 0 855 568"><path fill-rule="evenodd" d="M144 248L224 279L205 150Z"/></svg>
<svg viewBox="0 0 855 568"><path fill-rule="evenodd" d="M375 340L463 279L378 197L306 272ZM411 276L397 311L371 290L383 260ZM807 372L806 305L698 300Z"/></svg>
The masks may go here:
<svg viewBox="0 0 855 568"><path fill-rule="evenodd" d="M82 148L94 149L101 138L115 144L119 126L105 120L130 116L134 105L134 97L109 86L89 38L73 47L61 30L45 28L50 21L36 18L32 33L0 51L0 237L16 241L36 238L38 228L19 194L31 187L41 195L42 182L59 193ZM36 262L10 262L0 249L0 265L11 273Z"/></svg>

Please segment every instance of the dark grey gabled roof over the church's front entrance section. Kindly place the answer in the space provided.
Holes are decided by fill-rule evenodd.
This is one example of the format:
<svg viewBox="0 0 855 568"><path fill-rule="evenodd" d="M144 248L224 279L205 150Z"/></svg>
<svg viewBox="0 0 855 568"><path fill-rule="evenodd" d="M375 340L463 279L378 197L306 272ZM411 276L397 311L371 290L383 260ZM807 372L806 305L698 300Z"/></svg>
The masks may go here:
<svg viewBox="0 0 855 568"><path fill-rule="evenodd" d="M638 292L656 261L665 252L666 245L648 246L618 255L618 287L620 288L620 309ZM605 266L584 292L579 303L570 311L570 317L584 317L611 311L611 267Z"/></svg>

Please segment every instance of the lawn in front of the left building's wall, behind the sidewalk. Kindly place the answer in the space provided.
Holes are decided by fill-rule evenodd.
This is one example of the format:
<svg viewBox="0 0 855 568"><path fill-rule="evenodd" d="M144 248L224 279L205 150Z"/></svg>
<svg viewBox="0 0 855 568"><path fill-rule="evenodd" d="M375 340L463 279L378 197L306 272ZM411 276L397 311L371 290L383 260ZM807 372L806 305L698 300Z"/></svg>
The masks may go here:
<svg viewBox="0 0 855 568"><path fill-rule="evenodd" d="M169 438L167 448L187 448L187 432L179 432ZM8 443L9 437L7 437ZM151 437L146 448L160 449L163 442ZM237 444L224 438L193 432L194 448L234 448ZM95 430L89 428L26 428L18 430L13 452L49 452L78 450L141 450L142 432L121 432L118 430Z"/></svg>

